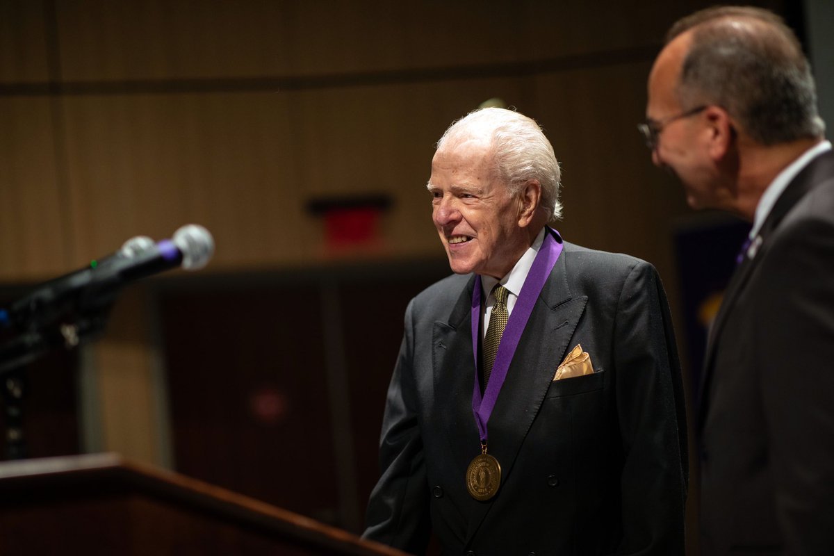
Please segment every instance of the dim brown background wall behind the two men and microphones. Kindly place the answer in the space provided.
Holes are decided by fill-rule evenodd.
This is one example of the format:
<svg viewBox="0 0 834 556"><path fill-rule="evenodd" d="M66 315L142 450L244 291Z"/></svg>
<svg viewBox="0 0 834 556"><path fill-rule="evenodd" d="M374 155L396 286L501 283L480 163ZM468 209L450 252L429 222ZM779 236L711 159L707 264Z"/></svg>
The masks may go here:
<svg viewBox="0 0 834 556"><path fill-rule="evenodd" d="M31 455L116 450L359 531L405 305L449 272L433 144L490 98L553 143L560 232L654 263L700 353L714 292L687 298L678 263L726 220L635 124L666 28L709 4L0 0L0 305L136 235L217 243L28 369ZM804 38L801 3L756 4ZM387 208L309 210L367 196ZM720 254L697 252L708 280Z"/></svg>

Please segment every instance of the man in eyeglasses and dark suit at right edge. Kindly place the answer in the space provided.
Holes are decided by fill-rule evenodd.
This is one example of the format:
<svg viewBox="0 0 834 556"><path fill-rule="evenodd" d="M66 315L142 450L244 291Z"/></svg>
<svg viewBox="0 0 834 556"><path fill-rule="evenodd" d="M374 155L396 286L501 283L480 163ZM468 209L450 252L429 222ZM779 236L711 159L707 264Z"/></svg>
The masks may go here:
<svg viewBox="0 0 834 556"><path fill-rule="evenodd" d="M752 223L711 328L696 419L703 554L834 553L834 153L781 19L676 23L641 132L693 208Z"/></svg>

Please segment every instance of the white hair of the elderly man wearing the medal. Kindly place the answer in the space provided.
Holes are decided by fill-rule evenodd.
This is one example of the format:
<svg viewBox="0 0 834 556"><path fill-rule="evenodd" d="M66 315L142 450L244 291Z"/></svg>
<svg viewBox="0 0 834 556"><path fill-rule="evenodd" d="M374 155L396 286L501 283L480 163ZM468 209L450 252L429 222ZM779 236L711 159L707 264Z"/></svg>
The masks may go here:
<svg viewBox="0 0 834 556"><path fill-rule="evenodd" d="M516 195L531 179L541 185L541 206L550 222L562 218L559 201L561 170L553 146L532 118L506 108L480 108L460 118L437 142L440 150L472 136L490 138L492 172Z"/></svg>

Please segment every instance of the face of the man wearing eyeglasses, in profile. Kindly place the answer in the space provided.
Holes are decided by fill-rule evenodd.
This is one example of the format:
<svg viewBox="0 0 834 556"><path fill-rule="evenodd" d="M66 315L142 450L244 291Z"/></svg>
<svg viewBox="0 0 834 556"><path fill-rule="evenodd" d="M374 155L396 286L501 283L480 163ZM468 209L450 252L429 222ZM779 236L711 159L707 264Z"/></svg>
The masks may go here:
<svg viewBox="0 0 834 556"><path fill-rule="evenodd" d="M675 38L661 51L651 69L646 118L655 123L668 122L659 127L651 161L681 180L686 202L692 208L716 207L715 168L706 153L704 139L708 130L703 123L703 114L676 118L695 108L681 106L675 94L681 63L690 42L688 33Z"/></svg>

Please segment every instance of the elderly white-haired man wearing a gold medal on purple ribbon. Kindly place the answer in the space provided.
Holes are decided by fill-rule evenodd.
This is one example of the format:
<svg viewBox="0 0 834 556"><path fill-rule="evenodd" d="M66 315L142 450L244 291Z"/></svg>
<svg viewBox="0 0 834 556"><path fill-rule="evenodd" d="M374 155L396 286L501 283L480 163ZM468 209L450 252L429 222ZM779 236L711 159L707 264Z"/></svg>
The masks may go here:
<svg viewBox="0 0 834 556"><path fill-rule="evenodd" d="M565 242L535 121L485 108L437 145L455 273L405 313L364 533L425 553L683 553L686 422L656 270Z"/></svg>

